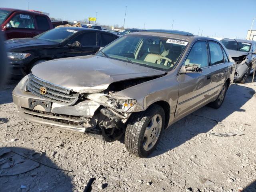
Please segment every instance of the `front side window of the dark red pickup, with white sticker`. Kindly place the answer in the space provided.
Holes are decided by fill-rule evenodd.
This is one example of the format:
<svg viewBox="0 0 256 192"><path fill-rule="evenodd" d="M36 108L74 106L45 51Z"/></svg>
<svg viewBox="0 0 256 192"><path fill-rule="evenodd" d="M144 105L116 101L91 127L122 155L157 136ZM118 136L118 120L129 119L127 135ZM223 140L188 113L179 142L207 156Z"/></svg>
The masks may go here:
<svg viewBox="0 0 256 192"><path fill-rule="evenodd" d="M16 14L10 20L9 24L13 28L26 28L26 29L35 28L33 17L26 13Z"/></svg>

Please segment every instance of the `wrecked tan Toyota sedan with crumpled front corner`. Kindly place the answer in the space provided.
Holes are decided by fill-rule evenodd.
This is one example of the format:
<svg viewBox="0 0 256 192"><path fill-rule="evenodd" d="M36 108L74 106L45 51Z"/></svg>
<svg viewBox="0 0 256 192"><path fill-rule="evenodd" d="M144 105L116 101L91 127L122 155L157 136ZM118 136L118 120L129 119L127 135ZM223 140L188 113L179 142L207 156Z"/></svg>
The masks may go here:
<svg viewBox="0 0 256 192"><path fill-rule="evenodd" d="M165 128L206 104L222 105L234 67L218 40L144 30L94 55L34 66L13 101L20 116L38 124L107 141L125 134L128 151L147 157Z"/></svg>

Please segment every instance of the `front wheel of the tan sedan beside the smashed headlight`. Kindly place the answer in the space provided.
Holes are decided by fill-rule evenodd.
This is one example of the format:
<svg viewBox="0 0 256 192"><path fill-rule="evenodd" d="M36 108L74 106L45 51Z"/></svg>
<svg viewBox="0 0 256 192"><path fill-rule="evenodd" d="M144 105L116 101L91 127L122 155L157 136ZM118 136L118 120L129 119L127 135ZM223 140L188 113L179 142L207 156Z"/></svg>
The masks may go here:
<svg viewBox="0 0 256 192"><path fill-rule="evenodd" d="M156 104L132 114L124 136L126 149L141 158L150 155L161 138L164 123L164 110Z"/></svg>

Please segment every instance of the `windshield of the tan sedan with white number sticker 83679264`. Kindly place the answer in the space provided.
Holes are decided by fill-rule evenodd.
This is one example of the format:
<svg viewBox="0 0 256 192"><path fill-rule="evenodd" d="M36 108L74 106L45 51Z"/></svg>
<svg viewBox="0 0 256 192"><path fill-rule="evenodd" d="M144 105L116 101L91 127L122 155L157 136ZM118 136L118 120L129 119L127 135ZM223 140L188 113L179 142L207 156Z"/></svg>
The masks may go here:
<svg viewBox="0 0 256 192"><path fill-rule="evenodd" d="M97 55L170 70L180 58L187 44L186 41L165 37L128 35L118 38Z"/></svg>

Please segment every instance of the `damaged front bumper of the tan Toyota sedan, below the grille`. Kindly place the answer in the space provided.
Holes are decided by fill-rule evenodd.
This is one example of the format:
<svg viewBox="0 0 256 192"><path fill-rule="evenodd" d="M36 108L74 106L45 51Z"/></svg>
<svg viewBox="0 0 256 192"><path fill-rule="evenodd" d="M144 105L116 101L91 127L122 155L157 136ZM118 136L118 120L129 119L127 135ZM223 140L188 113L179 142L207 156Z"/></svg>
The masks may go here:
<svg viewBox="0 0 256 192"><path fill-rule="evenodd" d="M12 92L12 98L18 107L18 114L31 122L78 132L86 132L96 126L94 114L100 107L97 102L85 100L74 106L52 103L50 112L46 112L40 105L31 108L31 99L47 102L31 92L23 92L16 87Z"/></svg>

